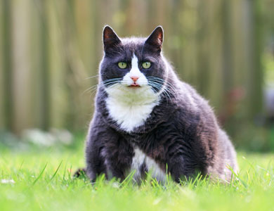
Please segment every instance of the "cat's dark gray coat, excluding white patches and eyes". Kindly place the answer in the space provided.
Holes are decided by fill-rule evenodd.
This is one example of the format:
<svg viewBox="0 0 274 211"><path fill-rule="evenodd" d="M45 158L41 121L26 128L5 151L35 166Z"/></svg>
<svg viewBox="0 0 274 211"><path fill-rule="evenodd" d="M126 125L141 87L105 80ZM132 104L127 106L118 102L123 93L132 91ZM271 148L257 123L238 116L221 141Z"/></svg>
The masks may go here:
<svg viewBox="0 0 274 211"><path fill-rule="evenodd" d="M133 149L138 147L164 172L167 168L175 181L197 171L230 181L227 166L237 170L233 145L207 101L178 79L162 55L162 27L157 27L148 39L119 39L110 27L105 27L103 40L105 55L100 63L96 109L86 140L86 172L90 179L94 181L99 174L124 179L131 169ZM164 86L169 87L169 94L160 94L159 103L143 125L126 132L110 117L105 91L109 84L104 82L126 75L133 53L138 60L152 63L150 70L141 69L145 77L162 79L158 81L161 86L153 89L155 94L161 93ZM119 61L128 62L129 68L120 70ZM145 172L146 167L141 168Z"/></svg>

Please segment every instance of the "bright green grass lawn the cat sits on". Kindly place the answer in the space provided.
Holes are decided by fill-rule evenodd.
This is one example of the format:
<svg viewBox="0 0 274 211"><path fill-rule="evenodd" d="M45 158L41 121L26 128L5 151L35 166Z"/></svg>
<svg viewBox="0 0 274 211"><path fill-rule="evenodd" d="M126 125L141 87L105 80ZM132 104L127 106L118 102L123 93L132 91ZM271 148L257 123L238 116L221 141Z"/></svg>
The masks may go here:
<svg viewBox="0 0 274 211"><path fill-rule="evenodd" d="M274 210L274 155L238 153L232 184L150 180L140 186L73 179L83 143L70 148L0 148L0 210Z"/></svg>

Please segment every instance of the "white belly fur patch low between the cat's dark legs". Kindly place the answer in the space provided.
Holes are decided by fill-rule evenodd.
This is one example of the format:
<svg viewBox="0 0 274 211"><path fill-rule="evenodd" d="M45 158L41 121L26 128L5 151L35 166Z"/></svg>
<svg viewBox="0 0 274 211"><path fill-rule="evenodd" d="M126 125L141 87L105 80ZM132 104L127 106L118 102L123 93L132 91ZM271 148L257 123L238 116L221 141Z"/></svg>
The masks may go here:
<svg viewBox="0 0 274 211"><path fill-rule="evenodd" d="M145 153L143 153L139 148L134 148L134 157L132 158L131 171L135 171L133 175L134 179L138 179L141 177L141 165L145 163L148 167L148 172L151 173L151 176L156 178L159 181L166 180L165 172L159 167L159 165L153 160L149 158Z"/></svg>

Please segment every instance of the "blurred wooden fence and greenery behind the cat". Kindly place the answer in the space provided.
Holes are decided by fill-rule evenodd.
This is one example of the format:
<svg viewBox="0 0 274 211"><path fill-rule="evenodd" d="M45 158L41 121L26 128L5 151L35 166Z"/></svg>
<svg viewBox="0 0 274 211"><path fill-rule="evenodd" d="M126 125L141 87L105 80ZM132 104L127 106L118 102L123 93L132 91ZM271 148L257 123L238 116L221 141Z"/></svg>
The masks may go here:
<svg viewBox="0 0 274 211"><path fill-rule="evenodd" d="M125 37L162 25L164 55L209 99L236 148L274 151L274 0L0 0L0 8L0 142L31 128L85 133L103 26Z"/></svg>

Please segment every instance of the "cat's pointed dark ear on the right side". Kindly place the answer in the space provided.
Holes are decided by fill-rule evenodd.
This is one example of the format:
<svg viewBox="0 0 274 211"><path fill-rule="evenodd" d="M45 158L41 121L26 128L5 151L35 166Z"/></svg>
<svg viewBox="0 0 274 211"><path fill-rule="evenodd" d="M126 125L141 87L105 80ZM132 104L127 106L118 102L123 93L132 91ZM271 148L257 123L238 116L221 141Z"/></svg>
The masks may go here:
<svg viewBox="0 0 274 211"><path fill-rule="evenodd" d="M150 46L156 52L161 52L162 43L164 39L164 30L162 26L157 26L155 30L150 34L148 39L145 41L145 45Z"/></svg>

